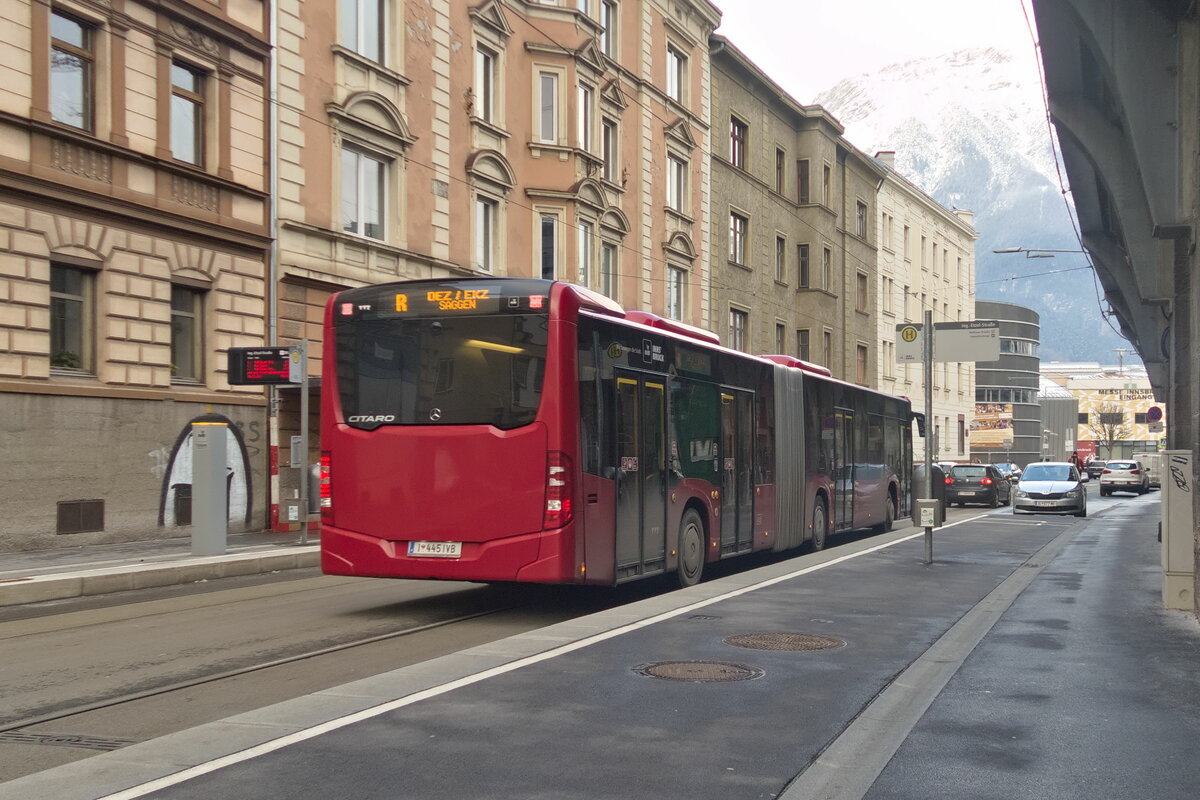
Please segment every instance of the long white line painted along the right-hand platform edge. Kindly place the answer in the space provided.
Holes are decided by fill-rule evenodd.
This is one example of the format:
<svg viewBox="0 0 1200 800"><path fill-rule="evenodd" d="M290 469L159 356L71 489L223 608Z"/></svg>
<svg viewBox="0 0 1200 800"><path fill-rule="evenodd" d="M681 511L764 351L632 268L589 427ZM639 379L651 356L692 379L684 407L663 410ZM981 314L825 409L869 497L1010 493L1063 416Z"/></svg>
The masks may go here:
<svg viewBox="0 0 1200 800"><path fill-rule="evenodd" d="M946 530L947 528L961 525L967 522L974 522L976 519L982 519L986 515L979 515L977 517L959 519L958 522L952 522L946 525L942 525L941 528L938 528L938 530ZM576 650L582 650L583 648L590 646L593 644L599 644L600 642L606 642L618 636L631 633L643 627L649 627L650 625L654 625L656 622L662 622L665 620L673 619L676 616L682 616L683 614L689 614L696 609L704 608L706 606L712 606L713 603L718 603L725 600L731 600L733 597L739 597L751 591L757 591L758 589L766 589L767 587L773 587L776 583L782 583L784 581L791 581L792 578L798 578L802 575L809 575L811 572L816 572L817 570L824 570L826 567L834 566L835 564L841 564L844 561L868 555L870 553L876 553L878 551L886 549L888 547L894 547L895 545L899 545L901 542L907 542L911 539L916 539L918 536L924 536L924 535L925 531L923 529L918 529L917 533L914 534L901 536L900 539L887 542L884 545L877 545L875 547L870 547L868 549L859 551L857 553L841 555L839 558L830 559L829 561L823 561L821 564L815 564L812 566L808 566L802 570L796 570L794 572L788 572L787 575L776 576L774 578L769 578L761 583L756 583L749 587L743 587L740 589L734 589L732 591L725 593L724 595L718 595L716 597L709 597L708 600L701 600L695 603L689 603L686 606L683 606L682 608L676 608L674 610L662 612L661 614L655 614L654 616L649 616L637 622L630 622L620 627L614 627L611 631L605 631L604 633L596 633L594 636L589 636L587 638L580 639L578 642L564 644L559 648L554 648L553 650L546 650L545 652L539 652L538 655L526 656L524 658L517 658L516 661L510 661L506 664L500 664L499 667L492 667L491 669L485 669L484 672L475 673L474 675L467 675L466 678L460 678L448 684L442 684L440 686L433 686L432 688L426 688L420 692L414 692L412 694L401 697L389 703L384 703L382 705L376 705L373 708L365 709L355 714L349 714L347 716L337 717L336 720L329 720L328 722L323 722L311 728L305 728L304 730L296 730L295 733L290 733L286 736L272 739L271 741L265 741L260 745L256 745L254 747L250 747L247 750L236 753L229 753L228 756L223 756L222 758L217 758L211 762L205 762L203 764L197 764L179 772L173 772L161 778L155 778L152 781L140 783L128 789L122 789L120 792L104 795L98 800L136 800L137 798L144 798L151 792L158 792L161 789L166 789L172 786L178 786L179 783L184 783L185 781L190 781L194 777L208 775L209 772L215 772L226 766L233 766L234 764L247 762L252 758L257 758L258 756L265 756L266 753L282 750L289 745L295 745L301 741L307 741L308 739L314 739L316 736L330 733L332 730L337 730L340 728L344 728L356 722L362 722L364 720L370 720L382 714L388 714L389 711L395 711L396 709L402 709L407 705L413 705L414 703L420 703L421 700L427 700L432 697L438 697L440 694L452 692L456 688L462 688L463 686L470 686L472 684L478 684L480 681L487 680L488 678L496 678L497 675L503 675L505 673L515 672L517 669L522 669L524 667L529 667L535 663L540 663L542 661L557 658L558 656L563 656L569 652L575 652Z"/></svg>

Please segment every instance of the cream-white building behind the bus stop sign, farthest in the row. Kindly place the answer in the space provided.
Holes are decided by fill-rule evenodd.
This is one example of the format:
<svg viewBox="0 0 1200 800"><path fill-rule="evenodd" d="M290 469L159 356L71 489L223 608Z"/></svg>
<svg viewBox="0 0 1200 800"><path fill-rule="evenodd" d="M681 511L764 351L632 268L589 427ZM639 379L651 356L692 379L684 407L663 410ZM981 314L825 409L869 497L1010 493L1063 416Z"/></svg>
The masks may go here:
<svg viewBox="0 0 1200 800"><path fill-rule="evenodd" d="M877 386L912 399L925 411L925 379L919 363L896 363L896 325L965 321L974 311L974 242L970 211L950 211L895 172L893 152L876 156L886 180L880 186L875 222L880 242ZM934 420L926 432L937 440L934 461L966 461L974 416L974 363L934 365ZM913 456L924 458L926 439L914 437Z"/></svg>

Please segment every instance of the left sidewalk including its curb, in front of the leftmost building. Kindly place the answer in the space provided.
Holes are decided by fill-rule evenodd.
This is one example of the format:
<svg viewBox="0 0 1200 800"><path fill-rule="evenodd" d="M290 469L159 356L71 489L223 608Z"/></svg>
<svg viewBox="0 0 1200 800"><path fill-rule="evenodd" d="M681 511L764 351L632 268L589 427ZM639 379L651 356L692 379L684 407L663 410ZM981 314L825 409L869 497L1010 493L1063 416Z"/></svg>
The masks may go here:
<svg viewBox="0 0 1200 800"><path fill-rule="evenodd" d="M190 537L0 554L0 606L316 567L317 531L230 534L223 555L192 555Z"/></svg>

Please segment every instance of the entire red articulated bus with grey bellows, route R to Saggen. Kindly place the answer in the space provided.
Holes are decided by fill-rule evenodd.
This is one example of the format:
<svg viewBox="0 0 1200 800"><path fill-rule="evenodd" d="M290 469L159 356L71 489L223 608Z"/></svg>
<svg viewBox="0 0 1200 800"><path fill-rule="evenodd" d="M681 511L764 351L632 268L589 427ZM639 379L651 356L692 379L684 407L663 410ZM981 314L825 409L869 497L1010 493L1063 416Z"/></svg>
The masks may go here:
<svg viewBox="0 0 1200 800"><path fill-rule="evenodd" d="M612 585L890 529L908 402L568 283L408 281L325 309L322 567Z"/></svg>

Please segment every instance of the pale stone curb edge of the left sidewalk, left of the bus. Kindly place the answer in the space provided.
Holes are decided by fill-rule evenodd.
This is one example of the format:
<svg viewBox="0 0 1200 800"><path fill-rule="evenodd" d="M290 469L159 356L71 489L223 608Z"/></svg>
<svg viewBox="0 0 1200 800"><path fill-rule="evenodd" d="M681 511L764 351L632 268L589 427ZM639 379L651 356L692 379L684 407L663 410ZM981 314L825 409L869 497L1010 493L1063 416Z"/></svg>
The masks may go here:
<svg viewBox="0 0 1200 800"><path fill-rule="evenodd" d="M270 552L202 555L178 561L133 564L60 575L0 581L0 607L106 595L112 591L174 587L197 581L299 570L320 564L317 545Z"/></svg>

